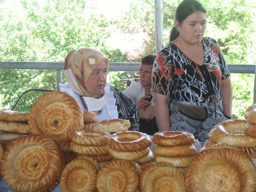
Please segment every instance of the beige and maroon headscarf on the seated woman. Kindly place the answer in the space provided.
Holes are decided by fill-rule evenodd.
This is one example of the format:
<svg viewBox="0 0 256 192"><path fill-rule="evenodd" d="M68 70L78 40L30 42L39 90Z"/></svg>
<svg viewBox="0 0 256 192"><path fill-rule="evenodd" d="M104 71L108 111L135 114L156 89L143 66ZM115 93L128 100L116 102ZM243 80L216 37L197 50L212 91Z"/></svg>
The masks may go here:
<svg viewBox="0 0 256 192"><path fill-rule="evenodd" d="M93 98L99 98L104 95L105 92L103 92L103 95L92 95L85 89L89 76L101 61L106 61L108 70L109 59L96 49L80 48L68 53L64 61L64 70L68 84L74 92L84 97Z"/></svg>

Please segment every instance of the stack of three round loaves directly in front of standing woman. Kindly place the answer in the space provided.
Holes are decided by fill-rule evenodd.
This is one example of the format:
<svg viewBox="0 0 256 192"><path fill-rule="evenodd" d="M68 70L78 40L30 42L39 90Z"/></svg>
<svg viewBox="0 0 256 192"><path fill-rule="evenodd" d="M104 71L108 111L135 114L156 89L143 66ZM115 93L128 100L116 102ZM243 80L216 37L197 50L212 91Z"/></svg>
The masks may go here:
<svg viewBox="0 0 256 192"><path fill-rule="evenodd" d="M192 143L195 137L189 132L157 132L153 135L154 159L156 162L167 162L175 167L188 167L196 148Z"/></svg>

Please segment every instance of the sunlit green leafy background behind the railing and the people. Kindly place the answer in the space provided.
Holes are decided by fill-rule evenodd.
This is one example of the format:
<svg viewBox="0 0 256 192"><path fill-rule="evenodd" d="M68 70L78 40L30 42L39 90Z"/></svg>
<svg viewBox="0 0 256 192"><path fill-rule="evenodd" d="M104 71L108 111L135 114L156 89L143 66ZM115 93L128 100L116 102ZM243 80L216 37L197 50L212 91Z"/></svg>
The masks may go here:
<svg viewBox="0 0 256 192"><path fill-rule="evenodd" d="M112 14L106 2L125 9ZM179 3L163 0L164 45L169 42ZM255 65L255 1L201 3L207 10L205 36L218 41L226 62ZM0 0L0 60L63 61L72 49L93 47L111 62L139 62L142 56L156 53L154 22L152 0ZM124 90L137 76L136 72L111 71L108 82ZM253 104L254 75L231 74L231 79L233 114L243 118ZM64 73L62 82L66 82ZM56 71L0 69L0 110L11 109L30 88L57 89ZM29 111L42 94L26 94L16 110Z"/></svg>

